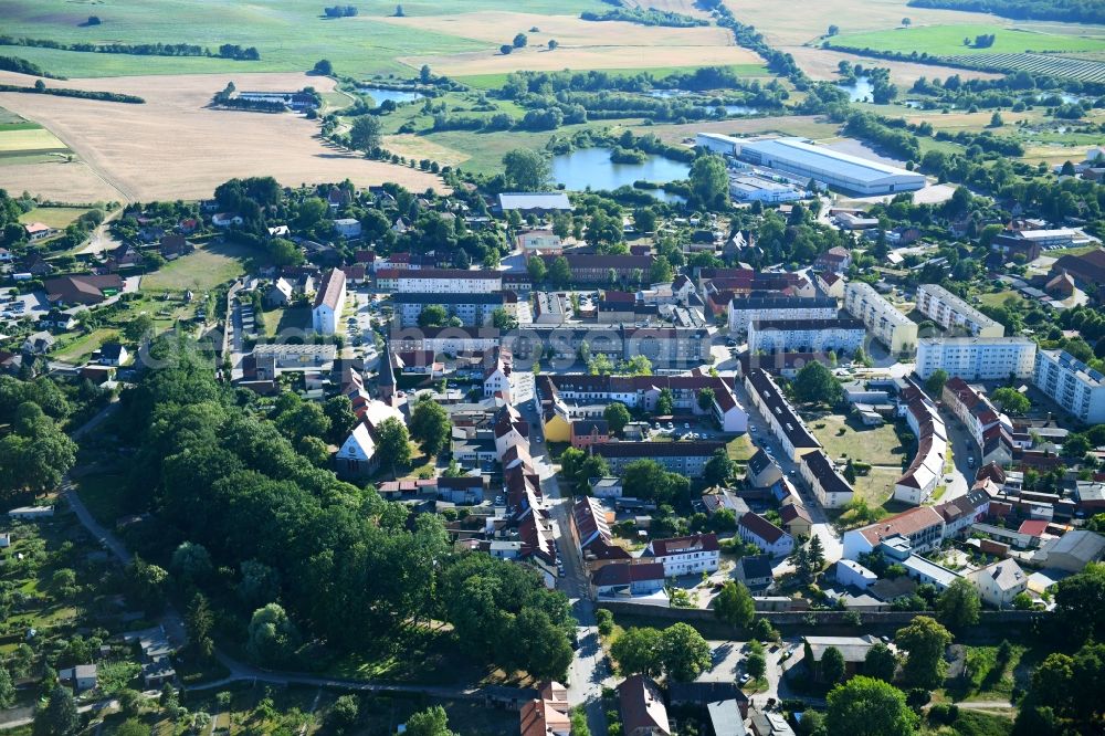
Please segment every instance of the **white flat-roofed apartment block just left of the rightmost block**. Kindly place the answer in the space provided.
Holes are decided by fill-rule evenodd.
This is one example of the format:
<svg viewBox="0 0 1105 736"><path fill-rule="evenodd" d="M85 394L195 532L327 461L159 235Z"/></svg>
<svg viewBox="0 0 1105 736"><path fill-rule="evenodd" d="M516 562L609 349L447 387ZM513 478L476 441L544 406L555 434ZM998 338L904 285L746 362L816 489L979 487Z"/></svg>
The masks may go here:
<svg viewBox="0 0 1105 736"><path fill-rule="evenodd" d="M1035 354L1027 337L925 337L917 343L917 375L943 369L969 381L1031 378Z"/></svg>

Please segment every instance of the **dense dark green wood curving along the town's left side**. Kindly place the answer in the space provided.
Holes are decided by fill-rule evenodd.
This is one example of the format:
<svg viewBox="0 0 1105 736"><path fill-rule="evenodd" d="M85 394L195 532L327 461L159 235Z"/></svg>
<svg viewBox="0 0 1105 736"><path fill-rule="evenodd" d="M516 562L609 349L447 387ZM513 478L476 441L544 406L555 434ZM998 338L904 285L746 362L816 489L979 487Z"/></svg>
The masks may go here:
<svg viewBox="0 0 1105 736"><path fill-rule="evenodd" d="M183 338L162 337L150 355L162 367L123 398L139 446L128 506L155 512L133 542L173 571L177 590L194 582L212 600L233 599L233 613L253 611L240 634L254 661L307 666L297 649L312 639L335 654L380 651L434 619L452 623L473 658L562 676L573 627L564 595L525 566L454 553L441 517L411 517L299 451L316 444L306 438L334 439L346 408L243 403ZM197 558L210 566L186 564ZM208 577L209 567L230 572Z"/></svg>

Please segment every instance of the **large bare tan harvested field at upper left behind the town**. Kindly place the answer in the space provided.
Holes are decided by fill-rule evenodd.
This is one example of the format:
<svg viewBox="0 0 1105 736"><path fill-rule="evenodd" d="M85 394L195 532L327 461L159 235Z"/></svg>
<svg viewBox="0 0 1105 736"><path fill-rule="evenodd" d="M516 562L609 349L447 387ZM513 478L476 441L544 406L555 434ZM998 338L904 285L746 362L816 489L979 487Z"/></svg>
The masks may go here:
<svg viewBox="0 0 1105 736"><path fill-rule="evenodd" d="M0 106L49 128L106 185L99 190L71 165L4 167L4 186L59 201L197 199L233 177L273 176L284 185L350 179L394 181L412 190L442 189L441 180L406 167L369 161L328 147L318 126L301 116L209 109L211 95L233 81L239 90L322 92L330 80L296 73L192 74L70 80L65 86L139 95L127 105L50 95L0 93ZM0 82L30 85L34 77L0 72ZM49 85L57 85L45 80ZM66 174L59 176L65 166ZM40 170L41 169L41 170ZM94 196L96 194L96 196Z"/></svg>

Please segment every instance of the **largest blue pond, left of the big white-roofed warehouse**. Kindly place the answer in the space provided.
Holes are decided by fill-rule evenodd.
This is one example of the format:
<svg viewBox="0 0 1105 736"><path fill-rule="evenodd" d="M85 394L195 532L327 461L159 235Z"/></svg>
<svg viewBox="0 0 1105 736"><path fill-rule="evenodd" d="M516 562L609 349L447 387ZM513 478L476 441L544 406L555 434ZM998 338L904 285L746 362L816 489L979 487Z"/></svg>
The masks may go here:
<svg viewBox="0 0 1105 736"><path fill-rule="evenodd" d="M610 160L610 148L580 148L570 154L561 154L552 159L552 179L572 191L591 189L617 189L632 187L634 181L667 183L686 179L691 166L663 156L649 156L642 164L614 164ZM681 201L676 194L662 189L648 191L664 202Z"/></svg>

